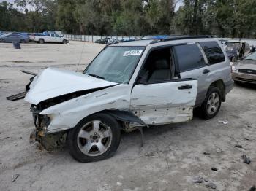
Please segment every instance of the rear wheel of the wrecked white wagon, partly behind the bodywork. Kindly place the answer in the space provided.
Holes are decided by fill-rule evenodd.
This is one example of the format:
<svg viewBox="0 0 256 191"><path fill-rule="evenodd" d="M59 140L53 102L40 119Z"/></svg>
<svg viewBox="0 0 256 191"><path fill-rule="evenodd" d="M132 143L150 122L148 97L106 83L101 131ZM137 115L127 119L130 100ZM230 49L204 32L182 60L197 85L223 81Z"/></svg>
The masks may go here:
<svg viewBox="0 0 256 191"><path fill-rule="evenodd" d="M200 106L200 115L208 120L217 115L221 106L221 93L217 87L209 87L205 101Z"/></svg>

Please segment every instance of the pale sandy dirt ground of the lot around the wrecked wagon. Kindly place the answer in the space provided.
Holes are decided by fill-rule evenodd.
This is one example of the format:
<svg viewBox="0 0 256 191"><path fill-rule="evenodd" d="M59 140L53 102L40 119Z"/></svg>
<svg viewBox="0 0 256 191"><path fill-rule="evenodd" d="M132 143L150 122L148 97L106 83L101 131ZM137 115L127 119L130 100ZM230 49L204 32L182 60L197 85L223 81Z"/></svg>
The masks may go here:
<svg viewBox="0 0 256 191"><path fill-rule="evenodd" d="M211 120L158 126L123 133L116 155L97 163L78 163L67 149L40 151L29 143L34 128L29 103L7 101L29 82L20 69L79 70L104 45L0 44L0 190L249 190L256 185L256 88L235 85ZM83 52L82 52L83 50ZM222 124L219 120L228 122ZM242 148L235 147L240 144ZM241 155L250 158L245 164ZM217 168L213 171L211 168ZM203 179L197 179L198 176ZM194 181L193 181L194 179ZM201 182L201 183L195 183Z"/></svg>

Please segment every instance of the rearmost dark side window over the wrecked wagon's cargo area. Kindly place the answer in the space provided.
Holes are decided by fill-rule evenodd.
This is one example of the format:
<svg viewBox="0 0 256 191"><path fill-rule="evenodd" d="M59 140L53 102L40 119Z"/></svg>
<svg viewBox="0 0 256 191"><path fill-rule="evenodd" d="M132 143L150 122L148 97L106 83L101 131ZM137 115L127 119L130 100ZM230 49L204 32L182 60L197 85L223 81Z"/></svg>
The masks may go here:
<svg viewBox="0 0 256 191"><path fill-rule="evenodd" d="M210 64L225 61L225 55L217 42L199 42Z"/></svg>

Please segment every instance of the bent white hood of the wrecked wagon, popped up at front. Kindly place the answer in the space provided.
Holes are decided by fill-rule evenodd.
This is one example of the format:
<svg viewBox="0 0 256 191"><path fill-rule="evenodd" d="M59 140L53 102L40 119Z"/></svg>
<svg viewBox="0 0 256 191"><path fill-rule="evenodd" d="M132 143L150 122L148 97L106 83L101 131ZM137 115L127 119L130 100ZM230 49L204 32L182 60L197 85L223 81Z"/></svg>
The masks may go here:
<svg viewBox="0 0 256 191"><path fill-rule="evenodd" d="M31 104L37 105L41 101L55 98L59 95L111 85L116 85L116 83L75 71L48 68L34 77L30 90L24 99Z"/></svg>

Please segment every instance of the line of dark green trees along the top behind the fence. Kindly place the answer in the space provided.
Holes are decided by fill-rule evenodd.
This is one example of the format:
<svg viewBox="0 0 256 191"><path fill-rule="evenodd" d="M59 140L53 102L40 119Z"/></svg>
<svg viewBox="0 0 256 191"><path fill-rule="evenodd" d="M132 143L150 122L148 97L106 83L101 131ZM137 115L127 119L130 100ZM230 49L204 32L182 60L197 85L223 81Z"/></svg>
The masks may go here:
<svg viewBox="0 0 256 191"><path fill-rule="evenodd" d="M182 6L176 10L178 2ZM256 37L256 0L15 0L0 3L0 31Z"/></svg>

